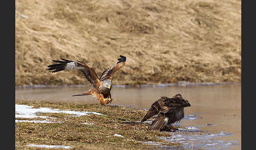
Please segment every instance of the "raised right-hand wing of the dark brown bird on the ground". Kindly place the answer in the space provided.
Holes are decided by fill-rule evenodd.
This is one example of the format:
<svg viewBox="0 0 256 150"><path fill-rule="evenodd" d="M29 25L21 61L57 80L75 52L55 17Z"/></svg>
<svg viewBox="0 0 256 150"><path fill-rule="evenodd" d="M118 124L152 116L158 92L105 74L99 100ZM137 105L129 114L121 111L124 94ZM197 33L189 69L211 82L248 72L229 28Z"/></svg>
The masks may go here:
<svg viewBox="0 0 256 150"><path fill-rule="evenodd" d="M183 99L181 94L176 94L173 98L165 99L164 102L170 108L173 108L173 107L183 107L184 108L184 107L191 106L189 101Z"/></svg>

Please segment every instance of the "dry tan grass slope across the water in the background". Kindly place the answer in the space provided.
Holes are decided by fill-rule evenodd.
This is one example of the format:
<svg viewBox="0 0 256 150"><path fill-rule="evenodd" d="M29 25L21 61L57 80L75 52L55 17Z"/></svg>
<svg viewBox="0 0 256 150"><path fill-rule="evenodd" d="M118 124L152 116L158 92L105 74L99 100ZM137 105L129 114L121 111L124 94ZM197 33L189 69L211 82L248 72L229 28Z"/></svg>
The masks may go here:
<svg viewBox="0 0 256 150"><path fill-rule="evenodd" d="M89 63L114 84L241 82L241 1L15 1L15 85L88 84L48 72L51 59Z"/></svg>

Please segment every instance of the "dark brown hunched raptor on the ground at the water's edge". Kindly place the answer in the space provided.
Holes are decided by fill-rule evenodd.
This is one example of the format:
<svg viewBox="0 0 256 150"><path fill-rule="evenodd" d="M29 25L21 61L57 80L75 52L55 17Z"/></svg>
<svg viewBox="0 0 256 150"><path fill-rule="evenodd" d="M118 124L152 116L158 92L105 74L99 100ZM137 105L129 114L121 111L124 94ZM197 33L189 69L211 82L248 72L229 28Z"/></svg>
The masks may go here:
<svg viewBox="0 0 256 150"><path fill-rule="evenodd" d="M161 97L151 105L141 122L158 114L147 130L170 131L172 123L180 122L183 119L184 108L188 106L191 106L189 101L183 99L181 94L176 94L173 98Z"/></svg>

